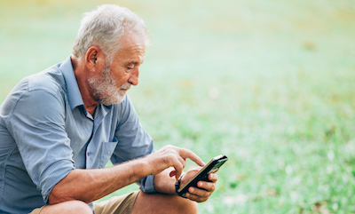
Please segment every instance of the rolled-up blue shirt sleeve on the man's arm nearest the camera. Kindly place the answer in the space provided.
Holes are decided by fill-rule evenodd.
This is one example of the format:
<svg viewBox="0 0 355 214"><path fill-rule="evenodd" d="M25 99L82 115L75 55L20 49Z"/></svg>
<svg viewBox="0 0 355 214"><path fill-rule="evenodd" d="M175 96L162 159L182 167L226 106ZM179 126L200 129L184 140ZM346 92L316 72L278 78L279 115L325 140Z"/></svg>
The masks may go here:
<svg viewBox="0 0 355 214"><path fill-rule="evenodd" d="M28 175L47 203L51 189L75 169L63 99L52 91L25 91L6 123Z"/></svg>

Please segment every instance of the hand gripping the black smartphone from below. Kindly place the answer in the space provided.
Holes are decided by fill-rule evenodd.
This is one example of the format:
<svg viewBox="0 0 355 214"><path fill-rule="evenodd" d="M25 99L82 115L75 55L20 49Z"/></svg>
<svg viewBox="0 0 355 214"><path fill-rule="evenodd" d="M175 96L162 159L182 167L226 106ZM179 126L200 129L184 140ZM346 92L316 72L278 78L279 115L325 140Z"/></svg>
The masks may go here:
<svg viewBox="0 0 355 214"><path fill-rule="evenodd" d="M188 170L185 176L181 180L180 186L184 186L185 183L199 171L201 168L194 168L193 170ZM200 180L197 182L198 187L189 187L185 197L195 201L195 202L206 202L209 199L209 196L215 191L216 189L216 182L217 182L217 174L210 173L209 174L210 181L202 181Z"/></svg>

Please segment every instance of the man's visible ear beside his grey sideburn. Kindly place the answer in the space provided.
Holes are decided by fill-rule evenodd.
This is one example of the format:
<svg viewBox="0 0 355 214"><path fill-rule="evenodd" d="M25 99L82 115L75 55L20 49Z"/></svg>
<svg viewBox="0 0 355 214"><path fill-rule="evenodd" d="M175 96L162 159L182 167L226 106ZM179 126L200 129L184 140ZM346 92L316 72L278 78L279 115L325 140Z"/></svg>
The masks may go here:
<svg viewBox="0 0 355 214"><path fill-rule="evenodd" d="M85 54L85 64L92 72L101 70L99 68L105 65L104 53L98 47L91 46Z"/></svg>

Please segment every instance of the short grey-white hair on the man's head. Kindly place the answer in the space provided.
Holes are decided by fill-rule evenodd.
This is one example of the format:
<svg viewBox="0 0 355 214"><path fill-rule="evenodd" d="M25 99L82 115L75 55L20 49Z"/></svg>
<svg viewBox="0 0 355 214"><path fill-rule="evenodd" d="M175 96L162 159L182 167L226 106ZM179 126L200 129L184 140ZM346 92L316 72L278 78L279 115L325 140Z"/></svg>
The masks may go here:
<svg viewBox="0 0 355 214"><path fill-rule="evenodd" d="M124 33L144 36L146 45L151 38L146 25L134 12L115 4L103 4L92 12L85 12L73 47L73 55L81 59L95 45L111 63L120 50L120 38Z"/></svg>

